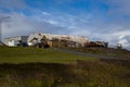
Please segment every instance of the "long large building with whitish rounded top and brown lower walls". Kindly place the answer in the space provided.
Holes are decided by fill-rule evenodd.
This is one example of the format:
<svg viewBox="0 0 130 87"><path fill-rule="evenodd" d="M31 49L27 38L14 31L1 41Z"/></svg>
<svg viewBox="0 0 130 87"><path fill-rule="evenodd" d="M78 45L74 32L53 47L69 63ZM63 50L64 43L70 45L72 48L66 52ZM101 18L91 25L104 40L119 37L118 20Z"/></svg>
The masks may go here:
<svg viewBox="0 0 130 87"><path fill-rule="evenodd" d="M52 34L31 34L28 39L28 46L36 46L39 44L49 47L83 47L88 42L88 38L81 36L68 36L68 35L52 35Z"/></svg>

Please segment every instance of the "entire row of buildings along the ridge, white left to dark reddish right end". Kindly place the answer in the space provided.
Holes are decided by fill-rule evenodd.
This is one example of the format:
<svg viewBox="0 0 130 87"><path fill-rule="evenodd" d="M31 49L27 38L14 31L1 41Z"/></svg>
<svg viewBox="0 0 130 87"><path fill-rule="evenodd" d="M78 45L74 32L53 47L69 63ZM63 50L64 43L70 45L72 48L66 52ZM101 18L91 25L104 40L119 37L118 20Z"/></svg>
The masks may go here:
<svg viewBox="0 0 130 87"><path fill-rule="evenodd" d="M87 37L68 36L68 35L52 35L35 33L29 36L10 37L4 39L4 44L10 47L32 46L32 47L107 47L104 41L89 41Z"/></svg>

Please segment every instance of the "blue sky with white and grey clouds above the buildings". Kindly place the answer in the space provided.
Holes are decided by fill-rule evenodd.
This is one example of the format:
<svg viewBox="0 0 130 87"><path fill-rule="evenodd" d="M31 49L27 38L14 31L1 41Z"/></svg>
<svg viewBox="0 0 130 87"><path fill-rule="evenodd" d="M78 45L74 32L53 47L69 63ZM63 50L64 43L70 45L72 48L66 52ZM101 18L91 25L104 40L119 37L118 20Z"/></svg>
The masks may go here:
<svg viewBox="0 0 130 87"><path fill-rule="evenodd" d="M130 49L129 4L130 0L0 0L2 38L61 34Z"/></svg>

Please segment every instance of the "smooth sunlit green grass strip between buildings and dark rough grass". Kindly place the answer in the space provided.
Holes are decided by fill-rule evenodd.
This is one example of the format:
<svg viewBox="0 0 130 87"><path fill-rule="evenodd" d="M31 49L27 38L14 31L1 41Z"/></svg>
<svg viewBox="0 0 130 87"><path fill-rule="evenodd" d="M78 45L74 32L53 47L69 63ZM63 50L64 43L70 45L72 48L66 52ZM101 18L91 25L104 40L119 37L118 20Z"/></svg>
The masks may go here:
<svg viewBox="0 0 130 87"><path fill-rule="evenodd" d="M27 63L27 62L43 62L43 63L72 63L77 60L93 60L83 55L61 52L57 50L41 49L41 48L9 48L0 47L0 63Z"/></svg>

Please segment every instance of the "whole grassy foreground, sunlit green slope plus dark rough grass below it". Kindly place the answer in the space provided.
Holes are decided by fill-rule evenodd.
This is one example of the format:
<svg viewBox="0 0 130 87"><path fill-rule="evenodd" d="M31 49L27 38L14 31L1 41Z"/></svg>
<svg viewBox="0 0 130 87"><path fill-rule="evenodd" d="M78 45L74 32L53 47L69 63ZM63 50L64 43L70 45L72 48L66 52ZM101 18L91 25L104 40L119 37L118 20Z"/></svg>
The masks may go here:
<svg viewBox="0 0 130 87"><path fill-rule="evenodd" d="M130 60L0 47L0 87L130 87Z"/></svg>

